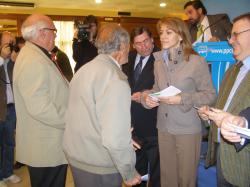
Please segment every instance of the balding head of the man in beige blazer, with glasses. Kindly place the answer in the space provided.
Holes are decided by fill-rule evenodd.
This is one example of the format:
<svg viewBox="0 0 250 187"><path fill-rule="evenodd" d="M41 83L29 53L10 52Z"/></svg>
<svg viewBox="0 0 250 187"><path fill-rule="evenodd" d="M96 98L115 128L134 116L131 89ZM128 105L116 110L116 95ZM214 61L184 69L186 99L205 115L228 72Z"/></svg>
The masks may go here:
<svg viewBox="0 0 250 187"><path fill-rule="evenodd" d="M21 28L23 38L26 41L33 42L48 51L54 48L54 46L51 47L50 43L54 43L55 31L52 19L43 14L32 14L24 21Z"/></svg>

